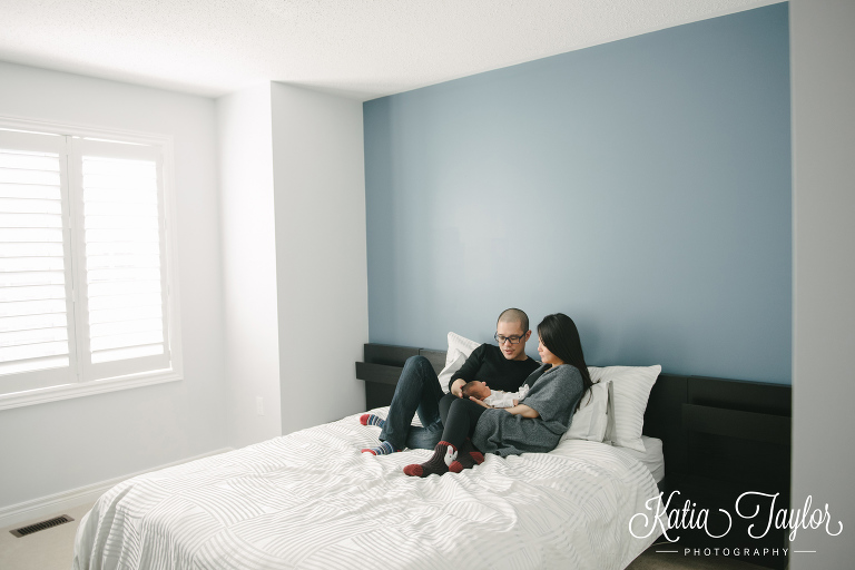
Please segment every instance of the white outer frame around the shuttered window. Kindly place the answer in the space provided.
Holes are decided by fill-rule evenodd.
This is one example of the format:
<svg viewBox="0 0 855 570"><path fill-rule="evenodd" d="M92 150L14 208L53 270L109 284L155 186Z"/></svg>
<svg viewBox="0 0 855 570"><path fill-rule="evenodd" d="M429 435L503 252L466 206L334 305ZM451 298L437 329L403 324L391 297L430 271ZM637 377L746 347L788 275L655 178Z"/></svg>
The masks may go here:
<svg viewBox="0 0 855 570"><path fill-rule="evenodd" d="M73 397L102 394L107 392L115 392L119 390L130 390L140 386L148 386L154 384L163 384L167 382L176 382L184 379L184 358L181 351L181 331L180 331L180 309L179 309L179 295L178 295L178 276L176 272L176 244L175 244L175 227L176 227L176 200L174 191L174 147L173 137L170 135L141 132L120 130L112 128L92 127L83 125L61 124L55 121L33 120L20 117L0 116L0 127L7 129L17 129L23 131L33 132L48 132L61 136L72 137L88 137L94 139L105 139L128 144L148 145L160 148L161 157L161 171L163 187L160 193L163 200L160 208L163 209L163 239L164 244L161 250L165 252L161 259L161 271L166 274L165 283L166 291L164 312L166 313L165 327L167 331L167 342L169 351L171 353L171 366L167 370L138 372L118 376L105 377L101 380L83 381L78 377L77 381L72 381L69 384L53 385L47 387L37 387L31 390L24 390L20 392L0 393L0 410L8 410L12 407L21 407L27 405L35 405L45 402L56 402L59 400L68 400ZM72 156L69 149L69 160ZM75 168L79 166L76 165ZM71 165L63 166L67 171L67 176L70 177ZM70 200L82 200L82 196L75 196L71 191L71 185L68 185L68 194L63 190L63 215L70 204ZM70 236L71 249L77 249L79 245L75 242L77 236ZM69 254L71 255L71 254ZM82 256L78 256L77 261L85 259ZM73 287L73 294L78 297L81 295L78 283L78 268L76 267L75 276L71 283L67 283L67 289ZM67 303L70 303L71 297L67 297ZM69 340L70 345L79 346L79 324L75 325L75 337ZM73 358L72 356L72 360ZM11 376L11 375L10 375Z"/></svg>

